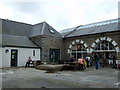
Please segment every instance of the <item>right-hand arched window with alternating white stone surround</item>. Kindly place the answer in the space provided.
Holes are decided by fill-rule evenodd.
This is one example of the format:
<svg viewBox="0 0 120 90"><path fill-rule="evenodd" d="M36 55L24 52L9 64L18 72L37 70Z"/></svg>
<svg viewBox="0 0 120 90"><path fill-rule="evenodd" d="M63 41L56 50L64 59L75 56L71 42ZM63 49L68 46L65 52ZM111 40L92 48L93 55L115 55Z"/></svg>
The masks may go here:
<svg viewBox="0 0 120 90"><path fill-rule="evenodd" d="M119 47L116 41L110 37L100 37L92 43L90 52L97 52L100 55L100 59L103 60L103 62L108 63L110 53L117 58Z"/></svg>

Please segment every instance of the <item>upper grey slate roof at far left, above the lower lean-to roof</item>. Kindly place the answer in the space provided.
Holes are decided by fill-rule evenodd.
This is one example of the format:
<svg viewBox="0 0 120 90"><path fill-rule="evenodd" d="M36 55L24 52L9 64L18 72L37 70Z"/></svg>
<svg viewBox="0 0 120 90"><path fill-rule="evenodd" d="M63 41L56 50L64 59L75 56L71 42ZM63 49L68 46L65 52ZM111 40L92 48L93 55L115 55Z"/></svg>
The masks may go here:
<svg viewBox="0 0 120 90"><path fill-rule="evenodd" d="M29 37L33 25L2 19L2 33Z"/></svg>

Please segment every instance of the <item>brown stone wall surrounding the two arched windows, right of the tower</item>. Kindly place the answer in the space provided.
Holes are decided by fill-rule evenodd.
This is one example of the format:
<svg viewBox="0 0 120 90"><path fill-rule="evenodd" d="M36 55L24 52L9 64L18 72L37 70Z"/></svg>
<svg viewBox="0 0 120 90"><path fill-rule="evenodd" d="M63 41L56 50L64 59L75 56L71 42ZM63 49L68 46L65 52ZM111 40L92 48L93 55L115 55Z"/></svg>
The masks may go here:
<svg viewBox="0 0 120 90"><path fill-rule="evenodd" d="M79 39L79 40L83 40L87 45L88 45L88 48L91 48L91 45L93 42L95 42L96 39L100 38L100 37L109 37L111 38L112 40L114 40L117 44L118 44L118 47L120 48L120 32L112 32L112 33L102 33L102 34L96 34L96 35L86 35L86 36L79 36L79 37L72 37L72 38L64 38L63 39L63 57L62 59L63 60L68 60L69 59L69 54L67 53L67 50L68 50L68 47L69 45ZM119 51L120 52L120 51ZM89 55L91 53L88 53ZM117 59L120 59L120 53L117 53Z"/></svg>

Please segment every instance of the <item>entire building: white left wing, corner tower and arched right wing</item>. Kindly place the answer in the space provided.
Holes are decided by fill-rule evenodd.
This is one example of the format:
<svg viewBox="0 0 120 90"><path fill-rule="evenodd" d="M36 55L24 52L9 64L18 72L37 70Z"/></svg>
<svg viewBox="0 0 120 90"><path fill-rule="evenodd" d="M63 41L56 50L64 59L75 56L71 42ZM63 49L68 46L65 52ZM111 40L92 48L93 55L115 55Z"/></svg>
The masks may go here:
<svg viewBox="0 0 120 90"><path fill-rule="evenodd" d="M61 63L72 55L100 54L104 63L109 54L120 60L119 19L80 25L57 32L46 22L35 25L0 19L0 67L24 66L27 58Z"/></svg>

